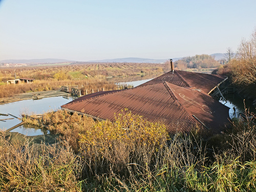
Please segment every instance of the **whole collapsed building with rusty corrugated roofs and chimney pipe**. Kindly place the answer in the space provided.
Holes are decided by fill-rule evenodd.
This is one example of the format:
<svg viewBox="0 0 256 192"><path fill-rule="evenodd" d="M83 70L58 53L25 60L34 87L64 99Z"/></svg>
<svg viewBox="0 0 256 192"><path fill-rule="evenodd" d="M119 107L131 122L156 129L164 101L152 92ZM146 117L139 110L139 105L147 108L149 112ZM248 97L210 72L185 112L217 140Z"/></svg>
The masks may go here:
<svg viewBox="0 0 256 192"><path fill-rule="evenodd" d="M188 133L196 124L219 133L229 122L229 108L209 94L226 79L172 69L135 88L81 96L61 109L110 121L128 109L148 121L162 122L169 133Z"/></svg>

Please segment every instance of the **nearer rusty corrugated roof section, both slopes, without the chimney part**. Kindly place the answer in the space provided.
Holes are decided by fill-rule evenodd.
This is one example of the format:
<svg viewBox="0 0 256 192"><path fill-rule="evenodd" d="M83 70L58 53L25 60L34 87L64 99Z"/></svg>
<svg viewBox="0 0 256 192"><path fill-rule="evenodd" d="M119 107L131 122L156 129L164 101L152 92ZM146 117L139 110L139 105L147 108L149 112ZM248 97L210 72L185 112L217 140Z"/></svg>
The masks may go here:
<svg viewBox="0 0 256 192"><path fill-rule="evenodd" d="M228 121L228 108L203 91L166 81L82 96L61 108L111 121L126 108L149 121L163 122L170 133L189 132L198 122L192 115L216 132Z"/></svg>

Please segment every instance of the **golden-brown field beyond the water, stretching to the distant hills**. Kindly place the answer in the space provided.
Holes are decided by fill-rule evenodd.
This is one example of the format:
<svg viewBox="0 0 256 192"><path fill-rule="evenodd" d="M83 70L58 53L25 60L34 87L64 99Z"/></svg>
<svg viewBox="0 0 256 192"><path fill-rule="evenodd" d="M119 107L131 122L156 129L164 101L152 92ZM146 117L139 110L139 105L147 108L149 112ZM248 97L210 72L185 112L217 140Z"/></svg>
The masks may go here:
<svg viewBox="0 0 256 192"><path fill-rule="evenodd" d="M94 90L115 90L116 81L106 77L133 77L160 75L166 71L166 66L151 63L79 63L79 65L27 67L27 68L1 68L0 88L5 92L1 97L13 96L19 93L59 90L61 86L80 86L81 92L88 94ZM20 83L8 85L3 81L14 78L34 78L33 83Z"/></svg>

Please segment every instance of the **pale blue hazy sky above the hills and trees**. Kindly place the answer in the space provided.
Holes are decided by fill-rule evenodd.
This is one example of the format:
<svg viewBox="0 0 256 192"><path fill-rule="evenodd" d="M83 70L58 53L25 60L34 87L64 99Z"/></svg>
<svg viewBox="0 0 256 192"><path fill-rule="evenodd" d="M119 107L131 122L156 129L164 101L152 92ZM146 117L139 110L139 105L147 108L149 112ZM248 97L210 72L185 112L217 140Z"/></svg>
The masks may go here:
<svg viewBox="0 0 256 192"><path fill-rule="evenodd" d="M0 60L236 51L256 27L255 8L255 0L0 0Z"/></svg>

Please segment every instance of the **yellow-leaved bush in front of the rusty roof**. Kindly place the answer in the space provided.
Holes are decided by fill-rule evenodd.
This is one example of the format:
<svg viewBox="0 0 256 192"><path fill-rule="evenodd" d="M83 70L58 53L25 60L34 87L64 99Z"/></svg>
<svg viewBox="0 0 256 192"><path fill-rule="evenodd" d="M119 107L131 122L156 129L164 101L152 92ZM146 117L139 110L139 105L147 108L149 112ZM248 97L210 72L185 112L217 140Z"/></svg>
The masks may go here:
<svg viewBox="0 0 256 192"><path fill-rule="evenodd" d="M87 173L88 170L92 174L104 173L110 169L124 173L130 170L130 163L154 164L167 139L162 123L146 121L124 110L115 116L115 122L99 121L80 134L79 145L84 162L87 162L84 166Z"/></svg>

